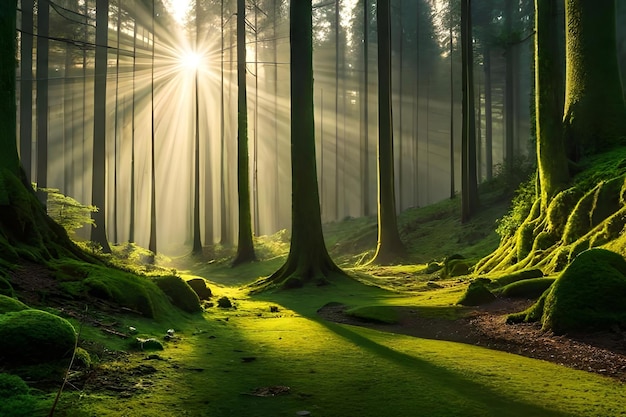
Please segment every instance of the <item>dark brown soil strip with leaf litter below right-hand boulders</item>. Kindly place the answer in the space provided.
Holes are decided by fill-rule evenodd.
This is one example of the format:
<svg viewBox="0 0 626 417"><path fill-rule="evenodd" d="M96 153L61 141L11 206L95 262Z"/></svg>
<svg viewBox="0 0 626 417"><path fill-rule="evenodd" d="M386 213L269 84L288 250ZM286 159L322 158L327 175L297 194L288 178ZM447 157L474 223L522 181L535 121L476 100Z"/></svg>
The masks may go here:
<svg viewBox="0 0 626 417"><path fill-rule="evenodd" d="M498 299L472 309L457 320L421 317L409 307L399 307L398 324L378 324L350 317L344 314L344 305L324 306L318 314L337 323L483 346L626 381L626 332L615 328L610 332L556 336L542 331L539 323L505 323L508 314L522 311L532 302Z"/></svg>

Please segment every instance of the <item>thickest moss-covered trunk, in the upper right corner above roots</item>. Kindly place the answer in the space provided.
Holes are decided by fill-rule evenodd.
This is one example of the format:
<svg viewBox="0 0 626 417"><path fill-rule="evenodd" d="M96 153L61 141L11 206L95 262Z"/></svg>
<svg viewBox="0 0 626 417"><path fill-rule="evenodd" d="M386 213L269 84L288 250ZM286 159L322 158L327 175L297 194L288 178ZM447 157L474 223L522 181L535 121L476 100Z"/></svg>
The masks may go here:
<svg viewBox="0 0 626 417"><path fill-rule="evenodd" d="M565 140L578 160L626 136L617 64L615 1L566 0Z"/></svg>

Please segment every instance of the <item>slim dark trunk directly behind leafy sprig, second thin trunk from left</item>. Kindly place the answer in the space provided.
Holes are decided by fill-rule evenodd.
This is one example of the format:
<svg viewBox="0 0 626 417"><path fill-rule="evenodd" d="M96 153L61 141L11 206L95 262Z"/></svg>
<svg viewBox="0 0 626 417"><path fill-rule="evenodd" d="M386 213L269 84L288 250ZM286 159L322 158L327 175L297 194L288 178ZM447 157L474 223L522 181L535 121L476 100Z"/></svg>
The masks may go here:
<svg viewBox="0 0 626 417"><path fill-rule="evenodd" d="M39 2L37 10L37 188L48 186L48 67L50 5ZM42 203L47 195L39 193Z"/></svg>

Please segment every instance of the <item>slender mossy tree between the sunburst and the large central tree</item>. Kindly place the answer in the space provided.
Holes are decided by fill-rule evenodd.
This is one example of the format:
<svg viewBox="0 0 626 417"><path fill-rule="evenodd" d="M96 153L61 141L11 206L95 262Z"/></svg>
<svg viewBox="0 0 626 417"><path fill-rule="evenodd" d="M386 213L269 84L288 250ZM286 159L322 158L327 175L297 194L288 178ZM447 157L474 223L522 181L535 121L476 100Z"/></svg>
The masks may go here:
<svg viewBox="0 0 626 417"><path fill-rule="evenodd" d="M246 97L246 2L237 0L237 191L239 234L233 266L256 260L252 243L248 109Z"/></svg>

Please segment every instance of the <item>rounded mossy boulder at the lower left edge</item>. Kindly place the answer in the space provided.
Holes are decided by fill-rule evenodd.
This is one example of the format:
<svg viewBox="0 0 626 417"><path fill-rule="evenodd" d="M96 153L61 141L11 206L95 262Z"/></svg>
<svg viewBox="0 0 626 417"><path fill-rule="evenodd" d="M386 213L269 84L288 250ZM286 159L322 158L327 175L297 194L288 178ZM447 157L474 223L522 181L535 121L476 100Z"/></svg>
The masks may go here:
<svg viewBox="0 0 626 417"><path fill-rule="evenodd" d="M59 316L41 310L0 315L0 358L11 363L41 363L71 355L74 327Z"/></svg>

